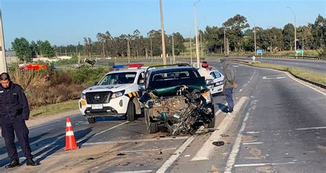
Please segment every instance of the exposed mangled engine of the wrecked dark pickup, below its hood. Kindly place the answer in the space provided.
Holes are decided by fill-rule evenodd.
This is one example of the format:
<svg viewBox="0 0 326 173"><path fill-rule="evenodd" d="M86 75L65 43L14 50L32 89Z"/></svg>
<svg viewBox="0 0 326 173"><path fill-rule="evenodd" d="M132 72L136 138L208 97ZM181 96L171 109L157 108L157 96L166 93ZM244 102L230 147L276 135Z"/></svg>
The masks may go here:
<svg viewBox="0 0 326 173"><path fill-rule="evenodd" d="M157 97L150 92L144 105L151 111L153 121L164 122L171 135L191 133L198 120L210 122L213 114L202 92L186 85L180 86L177 96Z"/></svg>

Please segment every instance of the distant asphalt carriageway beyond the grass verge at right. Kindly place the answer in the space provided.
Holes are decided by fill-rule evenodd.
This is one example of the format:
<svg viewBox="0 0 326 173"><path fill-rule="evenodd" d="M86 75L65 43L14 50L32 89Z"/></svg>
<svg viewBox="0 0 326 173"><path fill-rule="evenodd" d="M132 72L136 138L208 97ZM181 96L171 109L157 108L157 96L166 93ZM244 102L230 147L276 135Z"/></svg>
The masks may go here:
<svg viewBox="0 0 326 173"><path fill-rule="evenodd" d="M235 59L252 60L248 57L239 57ZM256 61L263 63L274 63L278 65L285 65L293 68L301 68L311 70L313 72L326 73L326 61L323 60L303 60L303 59L270 59L270 58L256 58Z"/></svg>

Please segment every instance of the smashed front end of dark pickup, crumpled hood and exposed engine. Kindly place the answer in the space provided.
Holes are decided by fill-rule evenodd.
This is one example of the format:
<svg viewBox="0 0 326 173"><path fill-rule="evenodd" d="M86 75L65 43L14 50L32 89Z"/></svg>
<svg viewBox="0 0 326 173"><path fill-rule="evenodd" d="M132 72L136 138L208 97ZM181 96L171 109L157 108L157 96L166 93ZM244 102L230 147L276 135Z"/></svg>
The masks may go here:
<svg viewBox="0 0 326 173"><path fill-rule="evenodd" d="M155 132L153 125L163 123L171 135L192 133L200 123L213 128L215 123L213 97L203 77L151 81L140 101L150 133Z"/></svg>

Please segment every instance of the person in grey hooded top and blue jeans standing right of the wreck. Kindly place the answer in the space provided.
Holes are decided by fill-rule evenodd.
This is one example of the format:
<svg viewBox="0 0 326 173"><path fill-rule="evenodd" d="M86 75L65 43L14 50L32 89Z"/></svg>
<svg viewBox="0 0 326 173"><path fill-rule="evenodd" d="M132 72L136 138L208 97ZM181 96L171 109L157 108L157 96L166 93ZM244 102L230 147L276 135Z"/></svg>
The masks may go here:
<svg viewBox="0 0 326 173"><path fill-rule="evenodd" d="M229 65L226 59L221 59L221 65L224 72L224 93L226 95L226 101L228 102L228 113L233 113L234 103L233 103L233 88L237 88L237 83L235 83L235 71Z"/></svg>

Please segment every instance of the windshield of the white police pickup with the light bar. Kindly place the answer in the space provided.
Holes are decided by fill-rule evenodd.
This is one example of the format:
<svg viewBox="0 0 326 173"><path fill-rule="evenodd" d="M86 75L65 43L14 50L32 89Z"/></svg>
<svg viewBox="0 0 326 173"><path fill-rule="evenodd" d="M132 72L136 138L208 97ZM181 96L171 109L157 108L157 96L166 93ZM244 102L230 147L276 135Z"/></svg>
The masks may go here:
<svg viewBox="0 0 326 173"><path fill-rule="evenodd" d="M98 85L118 85L133 83L135 81L136 72L121 72L107 74Z"/></svg>

